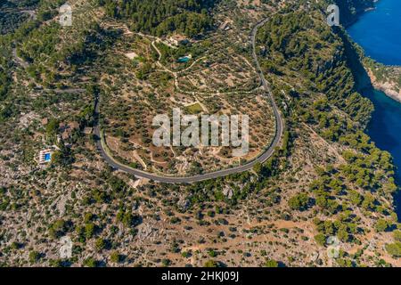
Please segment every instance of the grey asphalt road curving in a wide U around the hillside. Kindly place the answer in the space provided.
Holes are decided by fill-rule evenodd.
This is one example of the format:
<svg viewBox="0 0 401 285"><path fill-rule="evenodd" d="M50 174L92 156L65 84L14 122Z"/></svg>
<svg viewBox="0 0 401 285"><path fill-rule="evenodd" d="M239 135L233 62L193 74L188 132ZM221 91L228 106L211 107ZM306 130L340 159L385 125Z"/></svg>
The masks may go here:
<svg viewBox="0 0 401 285"><path fill-rule="evenodd" d="M233 168L227 168L223 170L219 170L216 172L211 172L203 175L194 175L194 176L184 176L184 177L175 177L175 176L163 176L163 175L157 175L157 174L152 174L149 172L145 172L142 170L138 170L132 167L127 167L121 163L119 163L116 159L113 159L110 154L106 151L107 146L104 145L104 139L102 137L102 133L100 131L99 127L99 114L100 114L100 108L99 108L99 103L98 100L96 99L95 101L95 106L94 106L94 116L95 116L95 126L94 126L94 134L97 136L96 139L96 149L100 152L102 155L102 158L110 165L110 167L113 167L115 169L124 171L128 174L135 175L136 177L139 178L147 178L151 179L153 181L161 182L161 183L195 183L195 182L200 182L200 181L205 181L209 179L216 179L218 177L223 177L226 175L233 175L233 174L238 174L242 173L245 171L249 171L252 169L255 165L258 163L264 163L266 162L267 159L269 159L275 150L275 147L280 143L281 138L282 138L282 132L284 128L284 123L282 120L282 116L280 114L280 111L277 108L276 103L274 102L274 97L271 92L271 89L269 85L266 82L265 77L263 76L262 69L260 68L260 64L258 61L258 56L256 53L256 35L258 32L258 28L263 26L268 19L262 20L256 25L251 32L251 41L252 41L252 55L253 59L255 61L256 67L258 69L258 75L262 81L262 85L266 89L266 94L270 102L272 103L273 110L274 110L274 117L275 117L275 134L274 134L274 140L271 142L270 146L257 158L254 159L247 164L244 164L240 167L233 167Z"/></svg>

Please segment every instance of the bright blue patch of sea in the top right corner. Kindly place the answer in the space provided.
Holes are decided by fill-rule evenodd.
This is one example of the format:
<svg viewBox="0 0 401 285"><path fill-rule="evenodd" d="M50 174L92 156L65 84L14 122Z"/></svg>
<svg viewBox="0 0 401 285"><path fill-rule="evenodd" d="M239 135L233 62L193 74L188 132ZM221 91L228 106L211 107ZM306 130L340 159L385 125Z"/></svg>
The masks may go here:
<svg viewBox="0 0 401 285"><path fill-rule="evenodd" d="M348 28L366 55L388 65L401 65L401 1L379 0L377 8Z"/></svg>

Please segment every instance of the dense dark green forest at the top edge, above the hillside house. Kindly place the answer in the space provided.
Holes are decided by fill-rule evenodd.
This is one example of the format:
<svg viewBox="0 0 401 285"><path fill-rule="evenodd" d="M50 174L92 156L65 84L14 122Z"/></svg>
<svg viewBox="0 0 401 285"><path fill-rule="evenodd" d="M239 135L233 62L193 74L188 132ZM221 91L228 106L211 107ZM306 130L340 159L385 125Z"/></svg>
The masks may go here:
<svg viewBox="0 0 401 285"><path fill-rule="evenodd" d="M195 37L212 26L213 0L99 0L110 17L127 20L135 31L162 36L172 32Z"/></svg>

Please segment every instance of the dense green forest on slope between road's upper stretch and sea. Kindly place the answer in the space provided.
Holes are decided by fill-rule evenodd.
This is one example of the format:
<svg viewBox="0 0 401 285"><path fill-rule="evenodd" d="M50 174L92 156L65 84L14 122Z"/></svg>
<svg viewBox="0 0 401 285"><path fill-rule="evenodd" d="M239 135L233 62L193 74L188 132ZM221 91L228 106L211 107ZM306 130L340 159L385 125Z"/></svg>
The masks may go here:
<svg viewBox="0 0 401 285"><path fill-rule="evenodd" d="M262 61L262 68L266 73L277 75L299 70L303 77L314 82L307 86L308 90L326 94L332 104L365 125L373 106L372 102L356 93L355 78L349 68L350 58L357 58L356 51L346 42L342 30L332 33L330 28L317 24L316 20L301 12L274 16L260 29L258 36L258 41L266 46L265 53L271 54ZM282 66L290 70L281 69ZM326 107L316 105L313 109L318 110L315 119L320 121L322 130L331 125L331 120L338 120L332 118L331 110ZM321 117L324 110L327 116ZM310 116L312 114L308 113L306 118ZM334 136L338 138L338 135Z"/></svg>

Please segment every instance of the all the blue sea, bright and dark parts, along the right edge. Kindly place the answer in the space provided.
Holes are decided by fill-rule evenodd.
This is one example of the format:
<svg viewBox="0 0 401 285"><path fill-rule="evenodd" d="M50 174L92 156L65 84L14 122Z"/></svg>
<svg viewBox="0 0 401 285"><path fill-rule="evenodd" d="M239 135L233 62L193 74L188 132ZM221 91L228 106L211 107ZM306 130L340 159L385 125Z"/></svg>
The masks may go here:
<svg viewBox="0 0 401 285"><path fill-rule="evenodd" d="M348 28L348 34L372 59L387 65L401 65L401 1L380 0L377 9L364 13ZM397 184L401 186L401 103L372 88L364 88L362 94L375 107L368 134L381 150L393 156ZM401 219L401 192L395 198Z"/></svg>

